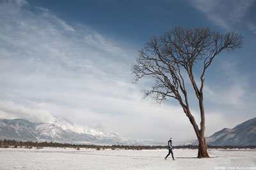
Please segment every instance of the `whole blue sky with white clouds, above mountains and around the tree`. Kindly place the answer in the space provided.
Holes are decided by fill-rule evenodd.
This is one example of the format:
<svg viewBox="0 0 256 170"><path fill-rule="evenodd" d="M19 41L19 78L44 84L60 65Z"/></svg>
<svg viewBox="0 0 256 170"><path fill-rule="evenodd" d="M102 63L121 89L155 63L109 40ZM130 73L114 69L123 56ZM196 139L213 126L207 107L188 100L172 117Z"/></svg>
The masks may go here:
<svg viewBox="0 0 256 170"><path fill-rule="evenodd" d="M205 135L232 128L255 117L255 17L255 1L0 1L0 118L66 117L127 138L195 139L176 101L143 100L150 79L132 83L138 50L180 25L244 36L205 75Z"/></svg>

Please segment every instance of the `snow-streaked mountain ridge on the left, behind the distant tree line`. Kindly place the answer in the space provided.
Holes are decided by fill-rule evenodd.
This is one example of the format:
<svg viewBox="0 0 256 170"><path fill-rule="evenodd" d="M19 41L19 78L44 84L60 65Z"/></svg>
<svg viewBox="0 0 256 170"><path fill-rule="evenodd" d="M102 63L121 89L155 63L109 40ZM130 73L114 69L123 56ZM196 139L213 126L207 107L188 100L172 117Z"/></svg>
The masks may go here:
<svg viewBox="0 0 256 170"><path fill-rule="evenodd" d="M87 125L74 124L66 118L55 118L51 123L0 119L0 139L93 145L166 145L153 140L122 138L100 124L90 128Z"/></svg>

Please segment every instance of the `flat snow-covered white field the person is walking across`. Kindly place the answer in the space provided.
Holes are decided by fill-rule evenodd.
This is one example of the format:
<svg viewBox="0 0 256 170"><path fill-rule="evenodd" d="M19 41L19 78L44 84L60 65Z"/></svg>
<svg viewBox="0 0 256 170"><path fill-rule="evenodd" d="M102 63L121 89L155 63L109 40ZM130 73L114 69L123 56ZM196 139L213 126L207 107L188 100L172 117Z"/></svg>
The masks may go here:
<svg viewBox="0 0 256 170"><path fill-rule="evenodd" d="M256 150L94 150L81 148L0 148L0 169L256 169Z"/></svg>

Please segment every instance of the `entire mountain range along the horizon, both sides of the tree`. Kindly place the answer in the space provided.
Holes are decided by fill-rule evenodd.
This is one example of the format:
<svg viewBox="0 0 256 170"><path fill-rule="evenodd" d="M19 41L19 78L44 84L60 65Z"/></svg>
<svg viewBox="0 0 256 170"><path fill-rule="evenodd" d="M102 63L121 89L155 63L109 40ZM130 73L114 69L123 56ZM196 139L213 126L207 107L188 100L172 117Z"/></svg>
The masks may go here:
<svg viewBox="0 0 256 170"><path fill-rule="evenodd" d="M100 124L90 128L87 125L74 124L66 118L57 117L51 123L30 122L20 118L0 119L0 139L93 145L166 145L153 140L123 138ZM215 132L206 138L206 143L212 146L256 145L256 118L247 120L233 129L224 128ZM198 141L175 143L176 146L188 144L198 145Z"/></svg>

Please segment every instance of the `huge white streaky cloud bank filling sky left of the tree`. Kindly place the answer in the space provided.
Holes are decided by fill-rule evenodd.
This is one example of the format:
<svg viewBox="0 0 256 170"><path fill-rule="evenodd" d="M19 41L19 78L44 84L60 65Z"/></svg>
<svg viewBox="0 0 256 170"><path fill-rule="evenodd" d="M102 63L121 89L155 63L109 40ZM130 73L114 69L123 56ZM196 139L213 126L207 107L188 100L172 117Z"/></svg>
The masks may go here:
<svg viewBox="0 0 256 170"><path fill-rule="evenodd" d="M124 48L47 9L33 13L23 2L0 7L1 118L47 122L62 116L101 123L129 138L194 138L180 107L141 101Z"/></svg>

